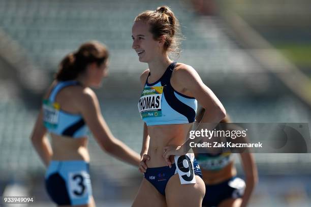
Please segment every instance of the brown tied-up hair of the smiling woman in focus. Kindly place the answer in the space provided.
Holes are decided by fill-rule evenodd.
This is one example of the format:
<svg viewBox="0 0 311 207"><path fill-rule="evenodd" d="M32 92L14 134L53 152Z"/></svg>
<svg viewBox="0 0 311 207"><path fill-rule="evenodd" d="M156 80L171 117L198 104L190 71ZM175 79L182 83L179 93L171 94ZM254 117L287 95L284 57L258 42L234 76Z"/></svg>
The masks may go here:
<svg viewBox="0 0 311 207"><path fill-rule="evenodd" d="M155 11L147 10L140 13L134 22L139 20L149 23L154 40L159 40L161 36L165 37L165 52L169 51L177 56L179 55L179 45L183 37L179 29L179 21L169 7L162 6Z"/></svg>

